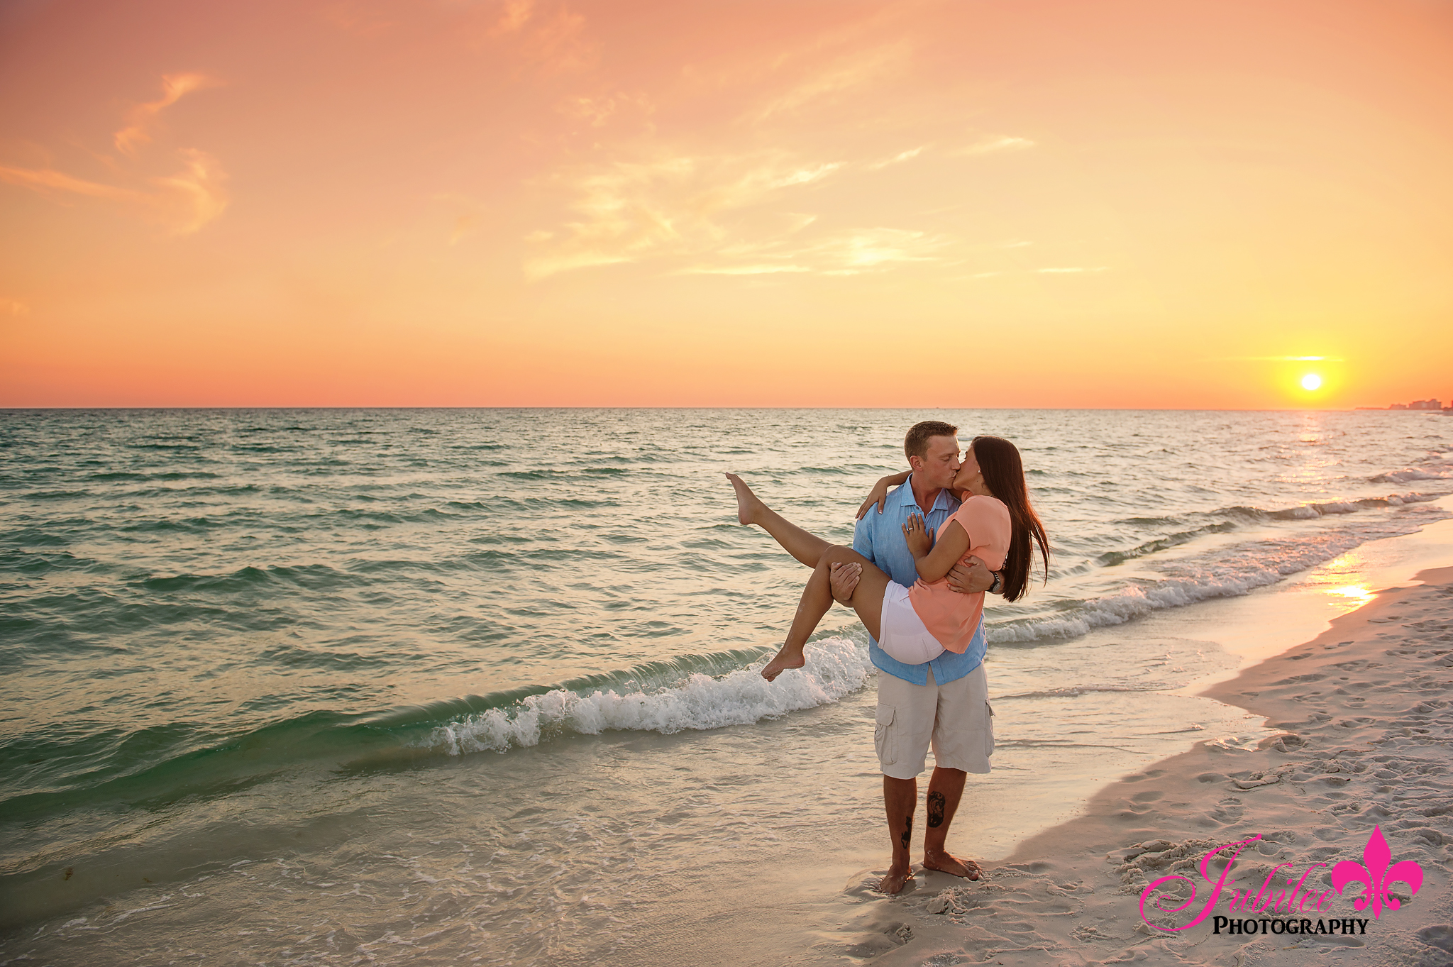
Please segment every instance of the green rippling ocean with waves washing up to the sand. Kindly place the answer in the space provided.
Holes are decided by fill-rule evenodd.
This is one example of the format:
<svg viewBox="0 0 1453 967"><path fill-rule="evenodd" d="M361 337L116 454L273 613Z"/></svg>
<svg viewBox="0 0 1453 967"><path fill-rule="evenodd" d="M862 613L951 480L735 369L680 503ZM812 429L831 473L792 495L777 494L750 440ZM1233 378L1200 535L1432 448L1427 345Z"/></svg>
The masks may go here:
<svg viewBox="0 0 1453 967"><path fill-rule="evenodd" d="M866 635L834 608L761 681L808 572L722 472L850 543L927 418L1019 444L1055 552L987 610L969 855L1266 735L1184 691L1215 629L1146 619L1453 492L1420 412L0 412L0 964L729 963L866 902Z"/></svg>

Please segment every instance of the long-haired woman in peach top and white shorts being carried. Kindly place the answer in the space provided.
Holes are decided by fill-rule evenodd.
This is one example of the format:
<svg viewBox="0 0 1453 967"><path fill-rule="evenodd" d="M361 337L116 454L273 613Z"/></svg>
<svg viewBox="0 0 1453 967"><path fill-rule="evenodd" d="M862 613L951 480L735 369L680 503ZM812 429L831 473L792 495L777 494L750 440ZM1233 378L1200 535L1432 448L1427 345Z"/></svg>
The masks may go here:
<svg viewBox="0 0 1453 967"><path fill-rule="evenodd" d="M924 530L921 517L911 517L904 527L904 539L918 571L918 581L911 588L895 584L850 547L828 544L788 523L735 473L728 473L726 479L737 491L737 520L757 524L788 553L812 568L786 643L761 669L767 681L806 662L802 648L833 607L830 569L834 563L862 565L853 597L844 604L851 604L885 652L911 665L931 661L944 650L963 653L978 629L984 594L959 594L949 588L944 576L955 563L976 556L989 571L1003 568L1004 598L1008 601L1017 601L1027 591L1033 556L1030 540L1039 544L1045 574L1049 574L1049 539L1030 507L1024 465L1019 449L1000 437L975 437L969 444L953 481L963 504L933 539ZM907 479L904 472L885 482L892 485Z"/></svg>

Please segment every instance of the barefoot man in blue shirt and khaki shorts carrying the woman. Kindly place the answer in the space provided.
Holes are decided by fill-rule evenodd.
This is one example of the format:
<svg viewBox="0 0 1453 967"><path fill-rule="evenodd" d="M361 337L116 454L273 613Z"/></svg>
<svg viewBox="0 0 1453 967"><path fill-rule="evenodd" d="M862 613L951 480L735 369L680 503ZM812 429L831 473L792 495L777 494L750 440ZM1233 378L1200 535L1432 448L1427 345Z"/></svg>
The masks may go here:
<svg viewBox="0 0 1453 967"><path fill-rule="evenodd" d="M959 507L958 498L947 489L959 472L958 434L958 427L936 420L910 428L904 438L904 453L912 468L908 482L889 494L881 510L869 511L857 521L853 550L898 584L911 587L918 579L904 537L908 517L921 514L928 533L937 533ZM833 597L850 600L860 572L862 565L833 565ZM972 568L956 566L949 584L962 592L1003 587L998 576L978 560ZM988 772L988 756L994 751L992 711L984 675L984 621L979 621L974 640L962 655L943 652L930 662L905 665L889 658L873 639L869 639L867 650L878 668L873 745L883 772L883 807L894 845L892 864L878 889L898 893L912 876L908 844L918 806L918 772L930 745L934 768L928 780L923 865L978 880L978 864L952 855L944 842L968 774Z"/></svg>

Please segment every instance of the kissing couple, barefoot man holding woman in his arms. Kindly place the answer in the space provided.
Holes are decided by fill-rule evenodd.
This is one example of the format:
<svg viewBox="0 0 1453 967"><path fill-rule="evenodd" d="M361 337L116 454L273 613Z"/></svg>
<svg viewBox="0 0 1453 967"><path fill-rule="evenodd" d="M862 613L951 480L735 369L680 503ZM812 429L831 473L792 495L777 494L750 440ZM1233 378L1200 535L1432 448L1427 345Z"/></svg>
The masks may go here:
<svg viewBox="0 0 1453 967"><path fill-rule="evenodd" d="M1013 443L975 437L960 459L959 428L930 420L908 430L904 454L910 469L881 479L859 508L851 547L809 534L726 475L737 491L737 520L757 524L812 568L786 642L763 678L806 664L802 649L834 600L853 608L870 636L878 668L873 745L892 842L882 893L898 893L912 877L908 845L930 746L923 867L979 878L978 864L944 844L968 774L988 772L994 754L984 594L1024 597L1035 544L1049 574L1049 537L1029 502Z"/></svg>

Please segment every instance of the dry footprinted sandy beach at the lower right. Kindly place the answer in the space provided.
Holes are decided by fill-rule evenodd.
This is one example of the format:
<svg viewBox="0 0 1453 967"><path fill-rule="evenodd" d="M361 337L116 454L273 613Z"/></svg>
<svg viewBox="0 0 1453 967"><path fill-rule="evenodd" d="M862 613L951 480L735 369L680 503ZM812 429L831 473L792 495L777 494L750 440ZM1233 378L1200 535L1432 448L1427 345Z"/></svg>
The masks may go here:
<svg viewBox="0 0 1453 967"><path fill-rule="evenodd" d="M907 942L875 963L1453 964L1453 566L1417 579L1199 693L1264 716L1279 735L1252 751L1200 742L1125 775L1084 815L982 864L978 883L920 874L894 905L911 925ZM1200 910L1200 857L1257 833L1234 865L1238 883L1289 862L1329 890L1328 868L1312 864L1361 862L1375 826L1393 862L1421 864L1424 883L1412 897L1398 884L1404 909L1383 907L1364 935L1232 937L1215 934L1210 916L1161 932L1141 919L1144 887L1173 871L1202 887L1187 906ZM1329 894L1322 916L1366 919L1353 907L1360 889ZM1225 906L1222 896L1216 913Z"/></svg>

